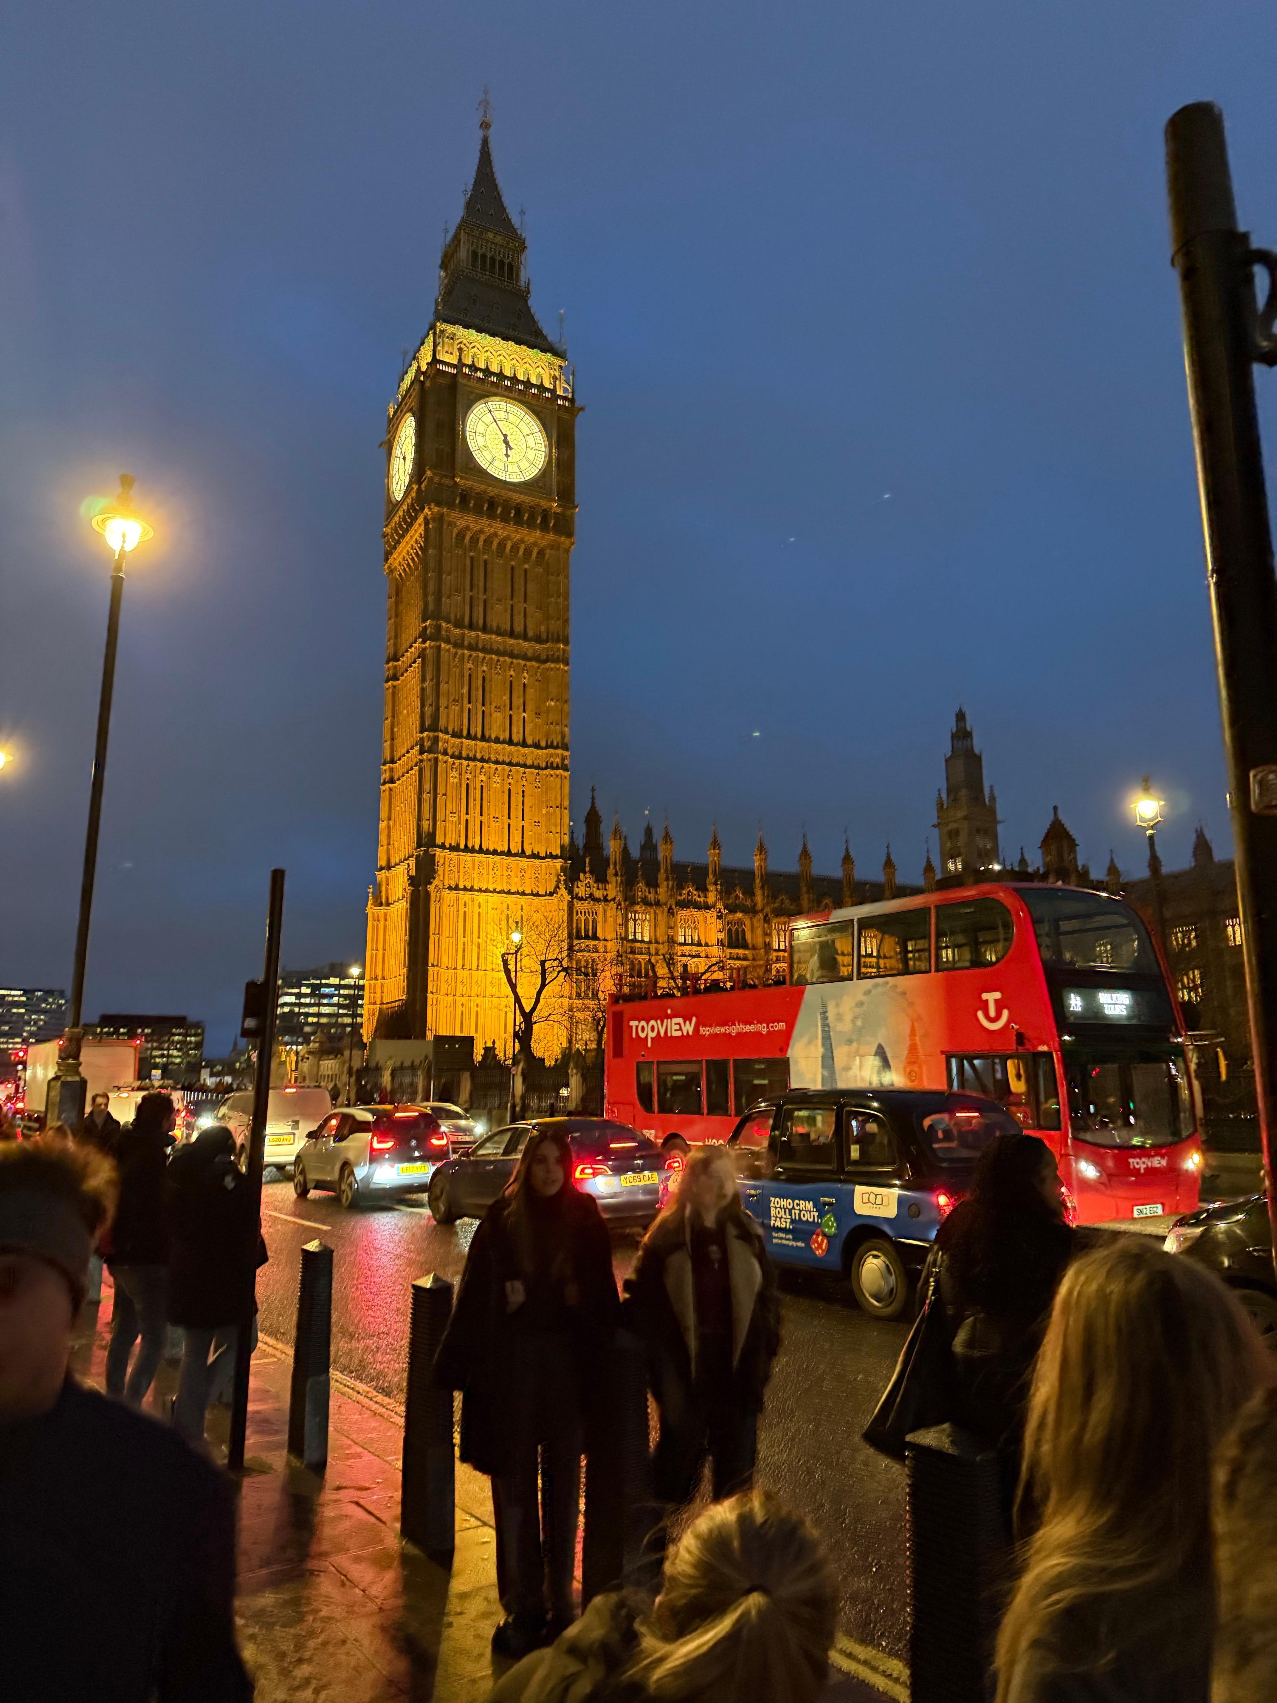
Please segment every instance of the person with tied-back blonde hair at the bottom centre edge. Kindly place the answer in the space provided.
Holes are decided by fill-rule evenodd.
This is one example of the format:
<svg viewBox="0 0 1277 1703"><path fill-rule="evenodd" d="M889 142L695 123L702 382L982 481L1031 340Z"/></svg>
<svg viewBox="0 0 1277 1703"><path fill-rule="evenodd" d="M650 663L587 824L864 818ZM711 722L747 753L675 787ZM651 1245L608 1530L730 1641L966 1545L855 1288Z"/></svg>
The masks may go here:
<svg viewBox="0 0 1277 1703"><path fill-rule="evenodd" d="M489 1703L816 1703L826 1688L838 1587L816 1533L766 1490L708 1507L645 1606L594 1597Z"/></svg>

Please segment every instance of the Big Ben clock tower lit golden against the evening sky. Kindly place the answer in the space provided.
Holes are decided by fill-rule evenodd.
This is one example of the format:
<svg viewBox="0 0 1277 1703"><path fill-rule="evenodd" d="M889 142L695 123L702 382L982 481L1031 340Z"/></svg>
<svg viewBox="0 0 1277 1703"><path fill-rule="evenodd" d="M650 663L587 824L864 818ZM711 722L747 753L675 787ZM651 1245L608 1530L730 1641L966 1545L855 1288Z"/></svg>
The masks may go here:
<svg viewBox="0 0 1277 1703"><path fill-rule="evenodd" d="M509 1049L501 954L567 920L577 407L482 123L434 320L390 404L381 828L364 1032ZM543 955L543 954L541 954Z"/></svg>

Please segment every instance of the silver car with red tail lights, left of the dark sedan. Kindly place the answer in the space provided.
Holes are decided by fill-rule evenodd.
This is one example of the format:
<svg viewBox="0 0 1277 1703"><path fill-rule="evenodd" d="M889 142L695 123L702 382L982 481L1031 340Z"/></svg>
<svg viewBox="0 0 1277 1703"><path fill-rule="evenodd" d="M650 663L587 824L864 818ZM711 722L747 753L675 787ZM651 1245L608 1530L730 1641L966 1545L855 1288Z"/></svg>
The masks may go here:
<svg viewBox="0 0 1277 1703"><path fill-rule="evenodd" d="M393 1201L426 1189L448 1158L448 1134L422 1105L339 1105L303 1143L293 1192L330 1189L342 1206Z"/></svg>

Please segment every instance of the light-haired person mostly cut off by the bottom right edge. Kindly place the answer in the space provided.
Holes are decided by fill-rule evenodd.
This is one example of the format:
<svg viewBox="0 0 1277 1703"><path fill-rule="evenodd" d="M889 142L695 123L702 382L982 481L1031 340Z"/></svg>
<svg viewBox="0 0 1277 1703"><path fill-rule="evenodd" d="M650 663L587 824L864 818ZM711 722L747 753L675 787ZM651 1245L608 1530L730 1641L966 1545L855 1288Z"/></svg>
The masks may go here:
<svg viewBox="0 0 1277 1703"><path fill-rule="evenodd" d="M1211 1703L1277 1698L1277 1385L1251 1396L1216 1471L1216 1630Z"/></svg>

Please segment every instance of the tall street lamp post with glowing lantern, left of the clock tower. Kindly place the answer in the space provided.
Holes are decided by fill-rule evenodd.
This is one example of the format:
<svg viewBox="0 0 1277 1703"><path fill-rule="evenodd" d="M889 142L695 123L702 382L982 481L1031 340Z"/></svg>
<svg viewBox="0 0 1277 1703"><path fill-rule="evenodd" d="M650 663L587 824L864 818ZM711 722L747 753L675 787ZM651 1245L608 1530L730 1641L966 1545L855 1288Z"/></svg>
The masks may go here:
<svg viewBox="0 0 1277 1703"><path fill-rule="evenodd" d="M94 777L89 787L89 829L83 843L83 875L80 877L80 920L75 928L72 1005L66 1024L66 1042L58 1058L58 1075L49 1081L44 1104L46 1124L70 1124L72 1127L82 1121L85 1102L85 1080L80 1075L83 974L89 959L89 921L94 911L97 833L102 823L102 782L106 780L107 736L111 732L111 697L116 688L116 647L119 644L119 605L124 598L124 557L136 550L143 538L153 536L152 528L133 507L133 473L119 475L119 494L94 516L94 528L106 538L116 562L111 569L111 613L107 615L107 642L102 657L102 693L97 700L97 746L94 748Z"/></svg>

